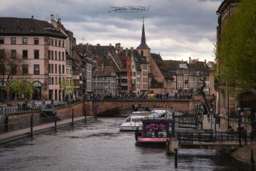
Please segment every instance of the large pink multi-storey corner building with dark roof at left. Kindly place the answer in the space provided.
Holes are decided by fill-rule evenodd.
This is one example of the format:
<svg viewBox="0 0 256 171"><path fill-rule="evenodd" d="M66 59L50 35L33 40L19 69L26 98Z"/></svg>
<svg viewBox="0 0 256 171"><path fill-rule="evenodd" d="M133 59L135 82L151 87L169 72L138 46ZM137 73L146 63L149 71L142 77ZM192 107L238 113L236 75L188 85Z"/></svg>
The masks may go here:
<svg viewBox="0 0 256 171"><path fill-rule="evenodd" d="M66 36L47 21L0 17L0 50L22 58L22 74L35 87L31 99L62 100L59 80L66 77Z"/></svg>

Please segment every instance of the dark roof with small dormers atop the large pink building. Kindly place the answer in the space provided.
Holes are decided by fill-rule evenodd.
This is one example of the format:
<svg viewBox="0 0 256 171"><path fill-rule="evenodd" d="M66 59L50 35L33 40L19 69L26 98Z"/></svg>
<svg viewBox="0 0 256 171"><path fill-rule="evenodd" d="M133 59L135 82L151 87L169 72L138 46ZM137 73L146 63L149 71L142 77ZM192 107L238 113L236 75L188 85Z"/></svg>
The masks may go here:
<svg viewBox="0 0 256 171"><path fill-rule="evenodd" d="M49 35L67 38L47 21L33 18L0 17L0 27L4 28L3 31L0 31L0 35ZM21 31L17 30L18 27L21 28ZM30 31L31 27L34 28L32 32Z"/></svg>

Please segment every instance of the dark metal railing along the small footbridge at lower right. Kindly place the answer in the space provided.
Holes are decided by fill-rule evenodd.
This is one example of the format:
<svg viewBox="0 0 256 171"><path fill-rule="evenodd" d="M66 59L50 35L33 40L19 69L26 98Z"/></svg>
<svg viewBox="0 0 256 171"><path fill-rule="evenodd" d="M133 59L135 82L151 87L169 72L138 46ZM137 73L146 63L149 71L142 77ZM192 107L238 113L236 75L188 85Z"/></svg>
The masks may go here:
<svg viewBox="0 0 256 171"><path fill-rule="evenodd" d="M239 143L239 132L184 131L175 132L179 143ZM241 133L241 143L253 144L256 137L253 133Z"/></svg>

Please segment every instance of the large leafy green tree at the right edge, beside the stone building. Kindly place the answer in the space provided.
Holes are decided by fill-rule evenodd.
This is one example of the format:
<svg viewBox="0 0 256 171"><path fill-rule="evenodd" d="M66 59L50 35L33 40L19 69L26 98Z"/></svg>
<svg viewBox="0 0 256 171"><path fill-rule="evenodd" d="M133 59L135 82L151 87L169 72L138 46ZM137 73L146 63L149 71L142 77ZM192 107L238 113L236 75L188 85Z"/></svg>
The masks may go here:
<svg viewBox="0 0 256 171"><path fill-rule="evenodd" d="M221 86L238 91L256 88L256 1L242 0L227 16L214 50L215 76Z"/></svg>

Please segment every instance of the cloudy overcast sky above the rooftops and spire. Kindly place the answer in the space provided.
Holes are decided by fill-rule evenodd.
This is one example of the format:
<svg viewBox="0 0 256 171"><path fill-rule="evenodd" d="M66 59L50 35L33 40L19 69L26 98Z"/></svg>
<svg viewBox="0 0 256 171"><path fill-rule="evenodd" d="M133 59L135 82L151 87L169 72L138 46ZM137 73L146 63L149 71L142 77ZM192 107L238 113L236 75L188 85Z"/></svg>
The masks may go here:
<svg viewBox="0 0 256 171"><path fill-rule="evenodd" d="M74 32L76 43L136 48L144 18L146 42L163 59L214 60L216 11L222 0L0 0L0 17L30 18L50 22L58 14L64 27ZM112 7L143 6L139 13L115 13ZM109 13L109 11L111 11Z"/></svg>

